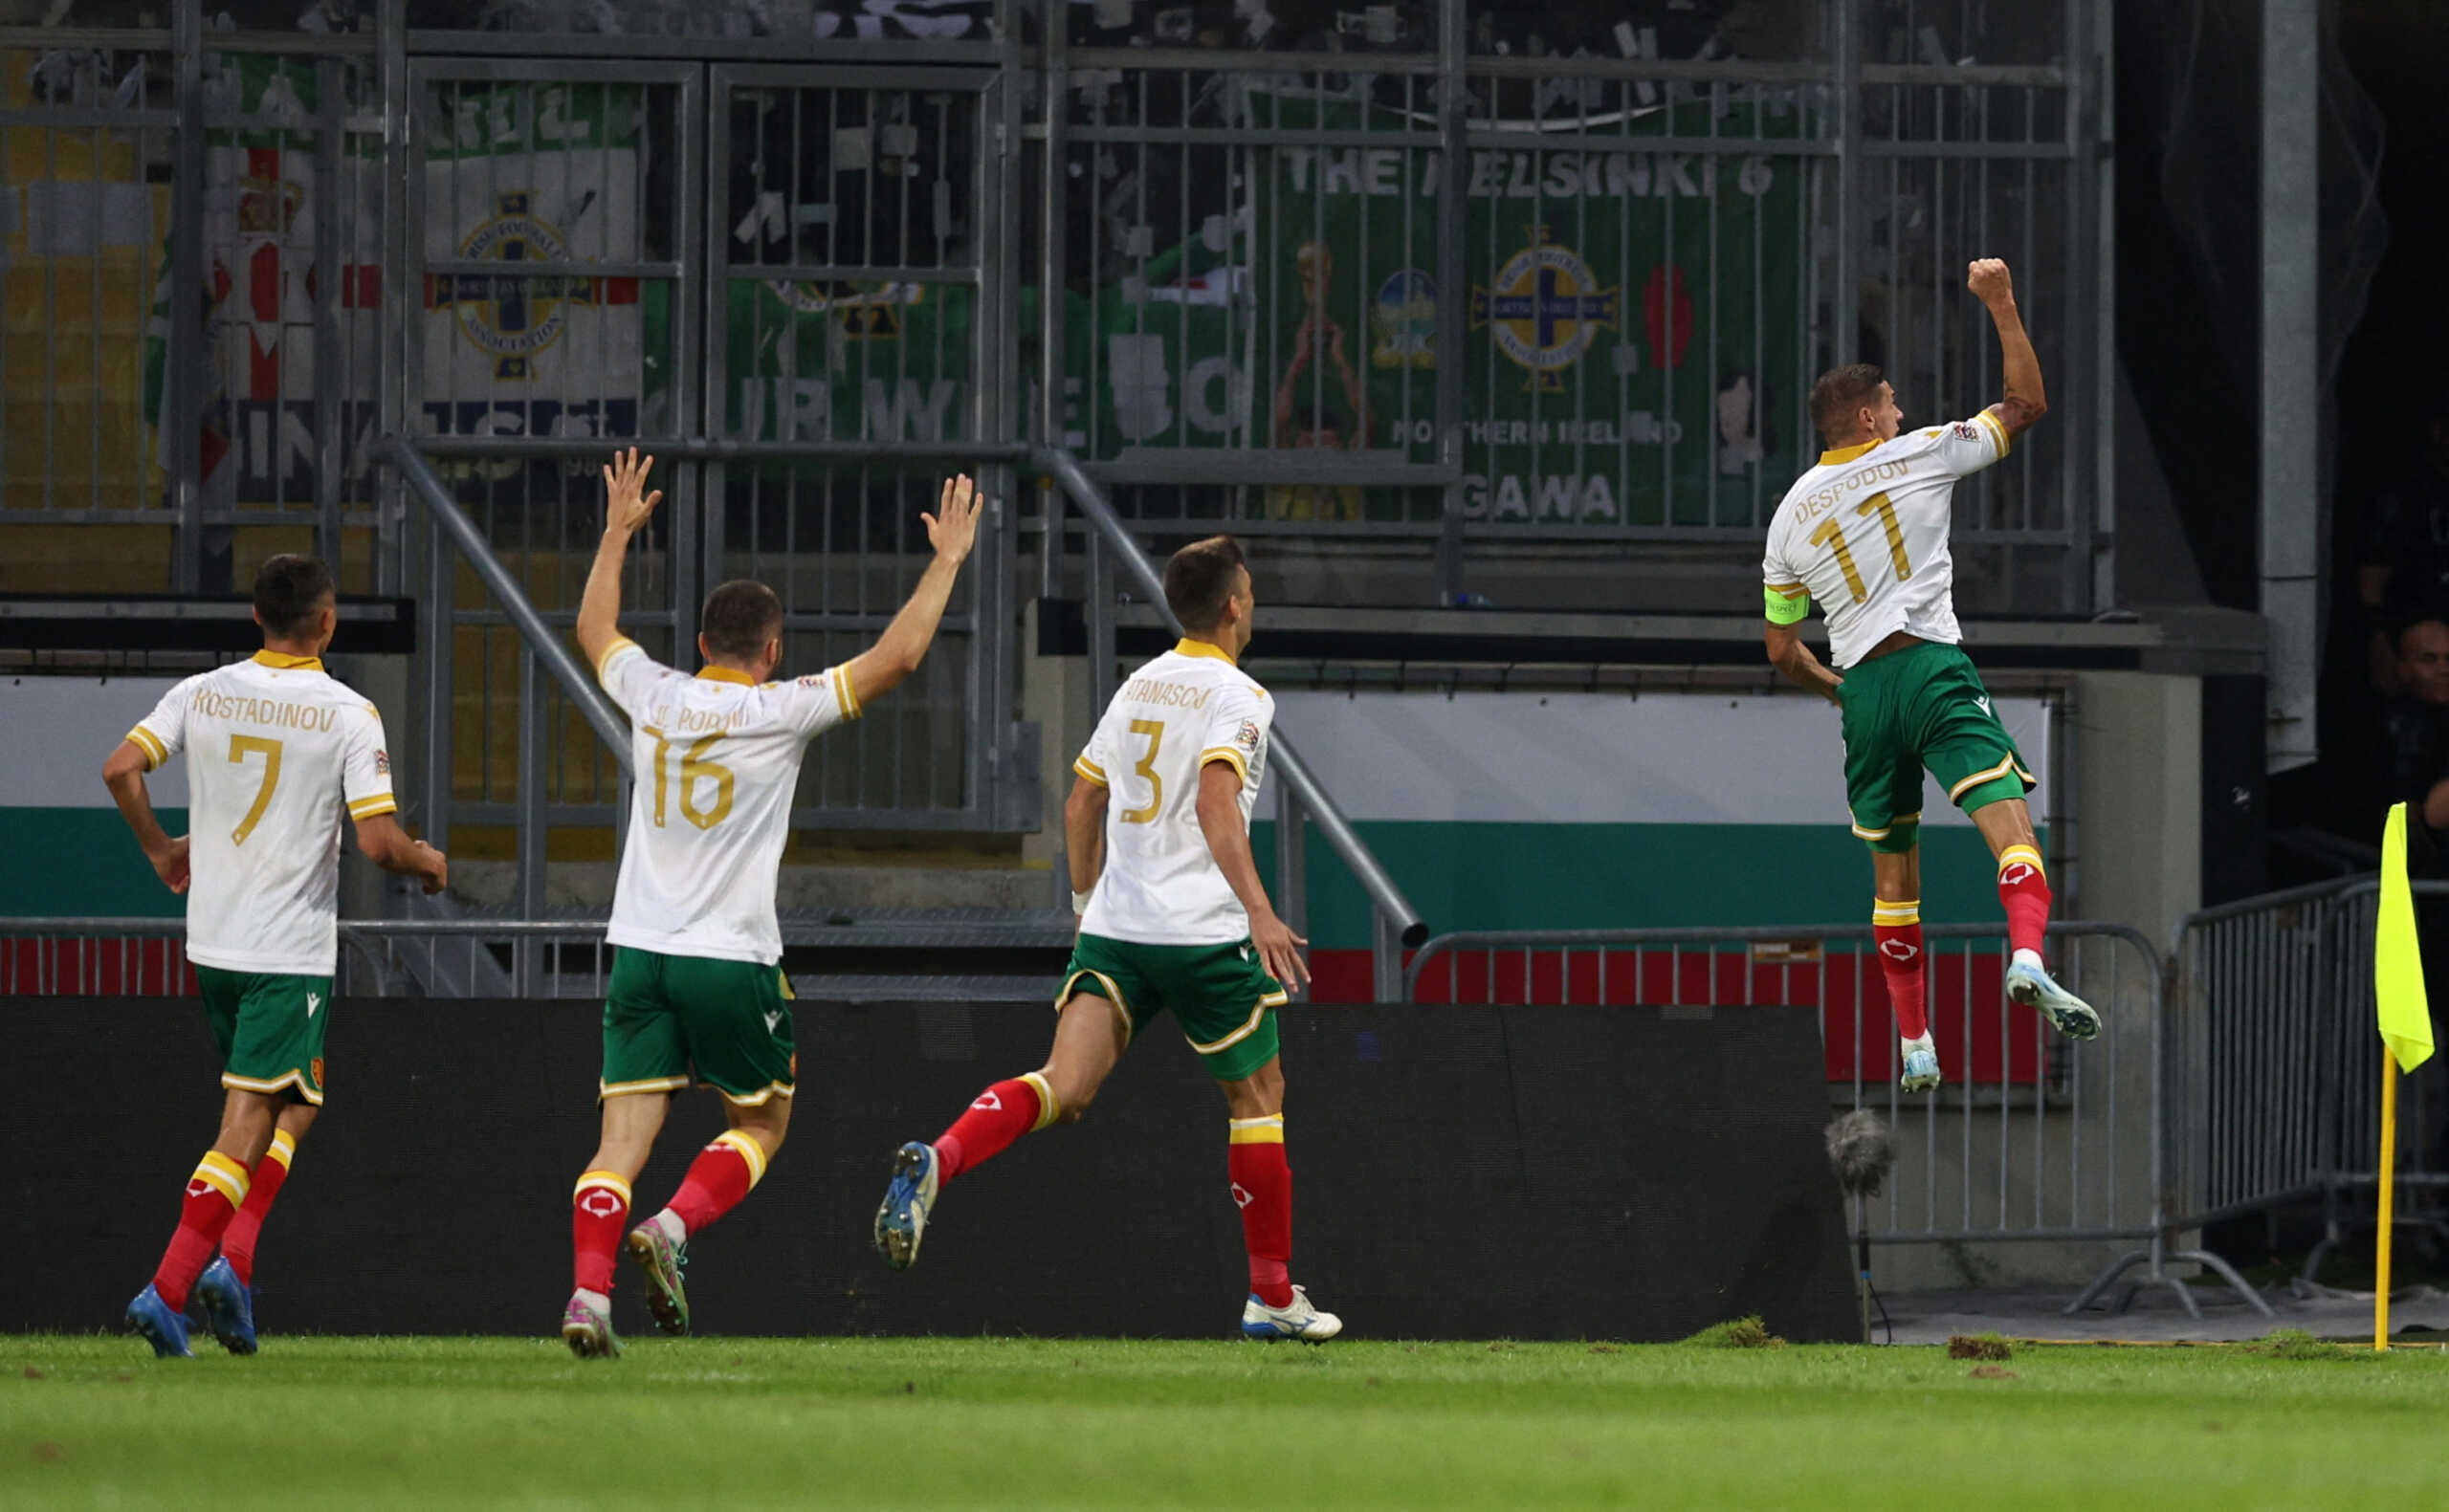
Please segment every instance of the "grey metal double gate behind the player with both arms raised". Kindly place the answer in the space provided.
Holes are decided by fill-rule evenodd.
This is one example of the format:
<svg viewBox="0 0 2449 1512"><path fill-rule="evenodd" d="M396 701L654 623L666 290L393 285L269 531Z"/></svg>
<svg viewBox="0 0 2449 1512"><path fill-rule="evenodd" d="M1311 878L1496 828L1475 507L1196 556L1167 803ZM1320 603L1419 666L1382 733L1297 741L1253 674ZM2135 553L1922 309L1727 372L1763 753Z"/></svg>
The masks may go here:
<svg viewBox="0 0 2449 1512"><path fill-rule="evenodd" d="M994 215L977 213L994 206L992 86L977 69L411 61L409 428L546 624L576 619L612 438L659 455L666 506L632 550L624 621L676 661L725 577L781 595L789 665L842 661L926 565L918 511L943 475L1009 494L977 445L1004 423L975 377L997 318ZM617 763L549 683L522 727L519 629L438 526L424 541L426 612L448 626L426 651L429 825L514 822L524 771L549 822L610 825ZM801 825L1033 822L992 631L1007 565L997 511L921 675L811 754Z"/></svg>

